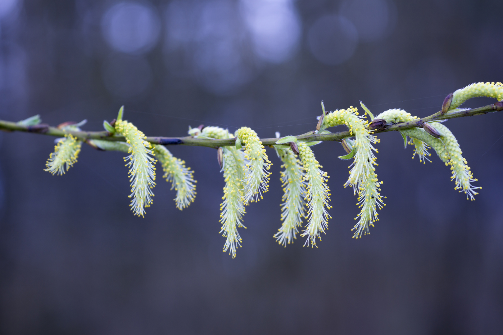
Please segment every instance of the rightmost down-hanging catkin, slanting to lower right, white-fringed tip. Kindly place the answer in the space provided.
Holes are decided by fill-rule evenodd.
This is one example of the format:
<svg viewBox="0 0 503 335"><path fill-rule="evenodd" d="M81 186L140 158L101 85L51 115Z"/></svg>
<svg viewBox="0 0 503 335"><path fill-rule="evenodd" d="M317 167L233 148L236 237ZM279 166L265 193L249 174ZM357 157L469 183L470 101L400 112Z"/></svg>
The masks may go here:
<svg viewBox="0 0 503 335"><path fill-rule="evenodd" d="M469 197L470 200L475 200L474 195L478 194L475 190L480 187L471 184L477 181L477 179L473 178L470 167L467 165L466 159L462 156L461 148L459 147L456 137L446 126L440 123L431 123L430 125L440 133L440 140L445 144L447 152L449 153L449 165L451 165L452 170L451 180L455 180L456 182L456 187L454 187L454 189L459 189L459 192L465 192L466 199Z"/></svg>

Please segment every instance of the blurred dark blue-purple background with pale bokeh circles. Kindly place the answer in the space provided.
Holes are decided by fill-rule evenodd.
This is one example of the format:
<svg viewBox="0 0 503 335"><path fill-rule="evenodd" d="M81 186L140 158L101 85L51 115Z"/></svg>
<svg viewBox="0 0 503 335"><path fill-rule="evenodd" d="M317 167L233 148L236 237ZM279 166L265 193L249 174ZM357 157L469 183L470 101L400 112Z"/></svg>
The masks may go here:
<svg viewBox="0 0 503 335"><path fill-rule="evenodd" d="M424 117L457 88L503 80L502 10L496 0L1 0L0 119L102 130L124 104L149 136L204 124L274 137L313 130L321 100ZM380 134L387 206L361 240L341 145L314 147L333 205L317 249L273 239L281 163L268 149L270 192L247 207L234 260L218 234L215 150L170 147L195 170L196 201L176 209L157 170L141 218L123 153L86 146L52 176L53 138L1 133L0 332L499 334L502 122L445 124L482 186L476 201L435 154L420 164L398 133Z"/></svg>

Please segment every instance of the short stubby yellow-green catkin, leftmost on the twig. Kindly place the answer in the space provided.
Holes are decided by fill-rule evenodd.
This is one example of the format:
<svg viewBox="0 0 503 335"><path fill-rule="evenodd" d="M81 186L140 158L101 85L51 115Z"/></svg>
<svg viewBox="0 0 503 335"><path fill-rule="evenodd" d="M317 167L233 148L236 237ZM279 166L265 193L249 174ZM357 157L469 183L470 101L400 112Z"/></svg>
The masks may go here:
<svg viewBox="0 0 503 335"><path fill-rule="evenodd" d="M62 175L77 161L82 142L71 134L66 134L54 147L45 166L50 173Z"/></svg>

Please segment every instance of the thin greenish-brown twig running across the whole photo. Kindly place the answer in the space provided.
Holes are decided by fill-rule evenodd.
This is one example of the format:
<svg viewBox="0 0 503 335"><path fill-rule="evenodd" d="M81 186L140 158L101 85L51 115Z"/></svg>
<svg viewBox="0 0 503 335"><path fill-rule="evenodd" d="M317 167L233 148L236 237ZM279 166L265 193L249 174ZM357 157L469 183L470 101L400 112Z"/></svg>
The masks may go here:
<svg viewBox="0 0 503 335"><path fill-rule="evenodd" d="M390 132L394 130L398 131L408 128L414 128L414 127L423 128L423 125L426 122L441 121L461 117L471 117L475 115L492 113L494 111L500 111L500 110L503 110L503 101L498 101L494 104L486 105L483 107L453 111L447 114L442 114L442 111L439 111L426 118L421 118L411 122L402 122L388 126L376 127L375 124L373 125L371 123L369 125L371 128L369 129L374 129L373 134L377 134L377 133ZM18 131L18 132L36 133L55 137L63 137L66 134L71 134L83 142L87 142L87 140L105 140L105 141L122 141L122 142L126 141L126 139L123 136L112 135L107 131L102 132L68 131L59 129L57 127L51 127L46 124L39 124L35 126L24 126L15 122L9 122L3 120L0 120L0 130L7 132ZM315 131L311 131L295 137L299 140L312 142L312 141L341 141L342 139L349 138L351 136L352 135L350 134L349 131L337 132L331 134L315 134ZM280 138L268 138L268 139L261 139L261 141L262 144L266 146L276 144L276 141L278 141L279 139ZM213 139L197 139L192 136L185 136L185 137L147 137L146 141L153 144L161 144L161 145L180 144L189 146L218 148L225 146L233 146L235 145L236 139L234 138L225 140L213 140Z"/></svg>

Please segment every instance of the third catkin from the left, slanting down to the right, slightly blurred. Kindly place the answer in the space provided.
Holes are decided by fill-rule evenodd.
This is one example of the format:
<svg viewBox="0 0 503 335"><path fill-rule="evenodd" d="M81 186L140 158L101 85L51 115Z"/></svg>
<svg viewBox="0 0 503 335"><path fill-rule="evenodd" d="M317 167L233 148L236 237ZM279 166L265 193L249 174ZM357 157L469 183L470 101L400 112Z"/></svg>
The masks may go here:
<svg viewBox="0 0 503 335"><path fill-rule="evenodd" d="M171 189L175 188L177 197L175 198L176 206L178 209L189 206L196 198L196 185L197 181L194 180L193 173L185 166L185 162L179 158L174 157L166 147L156 144L153 150L155 157L162 165L164 175L162 178L167 182L171 182Z"/></svg>

